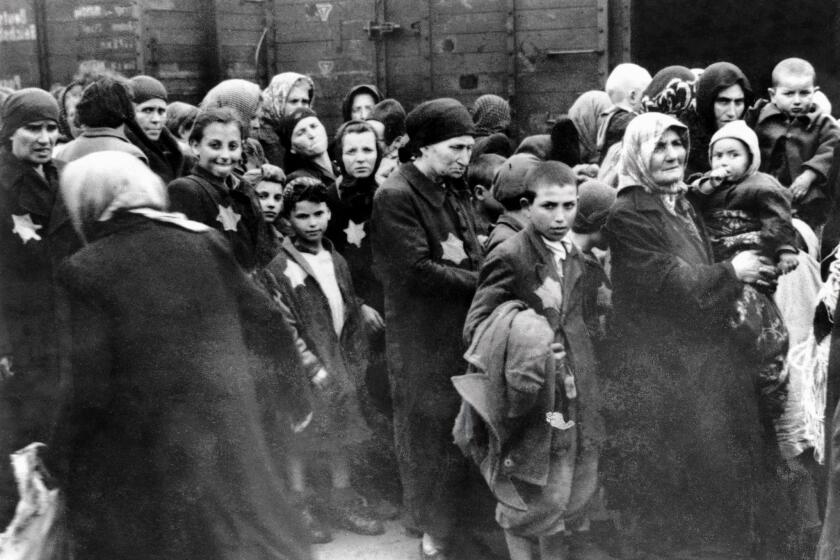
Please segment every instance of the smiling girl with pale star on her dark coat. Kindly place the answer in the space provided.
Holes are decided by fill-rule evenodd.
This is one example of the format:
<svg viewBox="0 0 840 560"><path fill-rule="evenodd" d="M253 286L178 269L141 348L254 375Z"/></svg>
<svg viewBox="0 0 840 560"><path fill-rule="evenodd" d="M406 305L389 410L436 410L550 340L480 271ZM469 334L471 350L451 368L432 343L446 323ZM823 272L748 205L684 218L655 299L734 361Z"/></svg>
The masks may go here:
<svg viewBox="0 0 840 560"><path fill-rule="evenodd" d="M236 260L248 272L271 255L260 204L253 188L233 175L242 158L244 124L229 107L211 107L196 117L190 149L196 165L190 175L169 183L170 208L221 231Z"/></svg>

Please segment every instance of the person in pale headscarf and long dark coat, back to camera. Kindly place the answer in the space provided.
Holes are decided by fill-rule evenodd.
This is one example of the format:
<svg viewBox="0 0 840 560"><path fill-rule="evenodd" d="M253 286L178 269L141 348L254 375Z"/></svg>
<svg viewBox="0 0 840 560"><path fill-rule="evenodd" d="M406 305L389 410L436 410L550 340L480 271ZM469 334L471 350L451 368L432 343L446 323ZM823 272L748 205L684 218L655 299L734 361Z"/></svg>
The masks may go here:
<svg viewBox="0 0 840 560"><path fill-rule="evenodd" d="M79 558L311 558L272 456L309 414L294 340L136 158L67 165L72 391L52 442Z"/></svg>

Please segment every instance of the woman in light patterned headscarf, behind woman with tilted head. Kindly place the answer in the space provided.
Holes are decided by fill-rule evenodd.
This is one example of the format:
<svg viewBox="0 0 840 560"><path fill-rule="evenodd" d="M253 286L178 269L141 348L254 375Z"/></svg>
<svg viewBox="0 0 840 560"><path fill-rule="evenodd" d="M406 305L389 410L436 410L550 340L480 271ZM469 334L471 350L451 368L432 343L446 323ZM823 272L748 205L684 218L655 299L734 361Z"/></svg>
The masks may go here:
<svg viewBox="0 0 840 560"><path fill-rule="evenodd" d="M277 74L263 90L262 126L257 138L263 145L269 163L283 167L286 151L279 137L283 118L301 107L312 107L314 101L314 82L310 77L297 72Z"/></svg>

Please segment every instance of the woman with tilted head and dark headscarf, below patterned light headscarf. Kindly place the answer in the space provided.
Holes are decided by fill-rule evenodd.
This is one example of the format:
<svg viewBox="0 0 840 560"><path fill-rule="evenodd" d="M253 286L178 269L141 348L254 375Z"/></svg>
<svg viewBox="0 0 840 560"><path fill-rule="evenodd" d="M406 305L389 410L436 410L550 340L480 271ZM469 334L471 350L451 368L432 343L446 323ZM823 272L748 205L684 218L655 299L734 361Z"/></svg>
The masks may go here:
<svg viewBox="0 0 840 560"><path fill-rule="evenodd" d="M327 130L315 111L302 107L283 117L278 133L286 152L283 171L287 175L299 172L310 175L325 185L335 182L338 169L330 159Z"/></svg>

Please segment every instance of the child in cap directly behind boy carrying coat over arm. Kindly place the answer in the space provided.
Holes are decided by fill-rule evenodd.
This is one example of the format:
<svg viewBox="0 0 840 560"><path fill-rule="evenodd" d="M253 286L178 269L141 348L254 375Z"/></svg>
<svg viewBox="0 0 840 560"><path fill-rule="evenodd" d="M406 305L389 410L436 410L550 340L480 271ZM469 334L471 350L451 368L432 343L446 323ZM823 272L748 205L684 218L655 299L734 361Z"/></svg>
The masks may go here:
<svg viewBox="0 0 840 560"><path fill-rule="evenodd" d="M525 229L534 191L525 181L525 175L540 160L531 154L514 154L502 162L493 176L490 195L502 206L504 211L490 229L484 251L489 254L506 239ZM523 204L523 200L527 204Z"/></svg>

